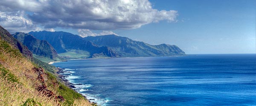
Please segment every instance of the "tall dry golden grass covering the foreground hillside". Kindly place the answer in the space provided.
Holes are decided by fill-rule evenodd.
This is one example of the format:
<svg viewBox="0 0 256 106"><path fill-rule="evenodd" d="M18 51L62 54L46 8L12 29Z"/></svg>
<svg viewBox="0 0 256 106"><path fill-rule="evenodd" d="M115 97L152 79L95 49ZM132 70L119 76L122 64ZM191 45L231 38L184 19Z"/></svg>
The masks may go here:
<svg viewBox="0 0 256 106"><path fill-rule="evenodd" d="M41 82L37 80L38 75L32 71L35 65L13 48L0 40L0 67L4 67L18 79L17 82L12 82L0 76L1 106L21 106L30 98L41 103L42 106L64 106L64 103L56 102L54 98L49 98L36 90ZM47 75L44 78L46 82L48 81L46 84L49 84L51 80L47 78ZM58 85L51 86L49 89L59 94ZM76 99L73 106L91 106L91 104L87 100Z"/></svg>

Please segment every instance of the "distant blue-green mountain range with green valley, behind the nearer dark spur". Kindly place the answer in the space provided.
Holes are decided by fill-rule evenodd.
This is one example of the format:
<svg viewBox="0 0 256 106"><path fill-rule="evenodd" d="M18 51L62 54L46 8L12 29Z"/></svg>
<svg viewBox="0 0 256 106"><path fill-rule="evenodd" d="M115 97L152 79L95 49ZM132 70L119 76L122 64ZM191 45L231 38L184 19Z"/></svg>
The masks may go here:
<svg viewBox="0 0 256 106"><path fill-rule="evenodd" d="M65 59L185 55L176 45L149 45L116 35L82 38L63 31L32 31L29 34L49 42Z"/></svg>

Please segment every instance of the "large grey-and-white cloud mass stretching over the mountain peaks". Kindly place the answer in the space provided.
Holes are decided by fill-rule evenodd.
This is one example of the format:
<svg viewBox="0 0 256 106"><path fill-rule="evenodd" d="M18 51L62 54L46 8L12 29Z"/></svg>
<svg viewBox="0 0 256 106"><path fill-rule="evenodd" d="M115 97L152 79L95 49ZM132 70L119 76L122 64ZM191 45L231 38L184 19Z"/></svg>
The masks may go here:
<svg viewBox="0 0 256 106"><path fill-rule="evenodd" d="M0 0L0 11L18 10L44 28L132 29L177 17L177 11L159 11L148 0Z"/></svg>

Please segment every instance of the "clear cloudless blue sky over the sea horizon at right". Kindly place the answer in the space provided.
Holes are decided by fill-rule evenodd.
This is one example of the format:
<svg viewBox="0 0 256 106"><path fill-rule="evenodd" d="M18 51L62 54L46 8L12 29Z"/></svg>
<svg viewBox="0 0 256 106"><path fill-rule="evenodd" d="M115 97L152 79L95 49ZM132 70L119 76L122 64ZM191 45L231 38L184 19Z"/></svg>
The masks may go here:
<svg viewBox="0 0 256 106"><path fill-rule="evenodd" d="M177 45L192 54L256 53L255 0L160 1L151 3L159 10L177 10L178 22L115 32L149 44Z"/></svg>

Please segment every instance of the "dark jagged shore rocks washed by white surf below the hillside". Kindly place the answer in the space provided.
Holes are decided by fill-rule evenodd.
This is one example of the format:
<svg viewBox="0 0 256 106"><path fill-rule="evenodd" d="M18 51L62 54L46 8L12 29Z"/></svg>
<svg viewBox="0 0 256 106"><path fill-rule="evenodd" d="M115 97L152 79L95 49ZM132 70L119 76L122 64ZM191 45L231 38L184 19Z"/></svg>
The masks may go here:
<svg viewBox="0 0 256 106"><path fill-rule="evenodd" d="M75 88L76 88L75 85L82 85L82 84L73 84L73 83L70 83L70 82L66 79L67 75L62 75L62 74L64 74L64 73L67 73L67 72L68 72L68 71L66 71L64 68L57 67L56 69L57 69L58 77L61 79L61 81L63 81L66 86L70 87L70 88L73 89L74 91L76 91L76 90L75 90ZM76 92L77 92L77 91L76 91ZM78 92L78 93L79 93L79 92ZM85 99L87 99L86 96L84 96L84 95L82 95L82 96L83 96ZM90 101L90 100L95 100L95 99L87 99L87 100ZM95 103L95 102L91 102L91 103L97 104L97 103Z"/></svg>

